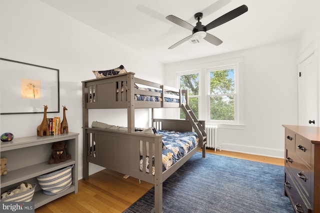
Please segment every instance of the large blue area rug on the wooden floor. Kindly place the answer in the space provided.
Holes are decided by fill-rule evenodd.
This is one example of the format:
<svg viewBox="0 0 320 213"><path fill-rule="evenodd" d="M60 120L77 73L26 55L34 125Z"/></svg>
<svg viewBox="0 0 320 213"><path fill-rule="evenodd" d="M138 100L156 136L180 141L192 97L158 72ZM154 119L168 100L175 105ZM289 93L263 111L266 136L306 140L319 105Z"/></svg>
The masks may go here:
<svg viewBox="0 0 320 213"><path fill-rule="evenodd" d="M166 212L294 212L284 195L284 167L195 153L163 182ZM123 212L154 212L154 188Z"/></svg>

